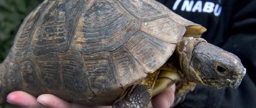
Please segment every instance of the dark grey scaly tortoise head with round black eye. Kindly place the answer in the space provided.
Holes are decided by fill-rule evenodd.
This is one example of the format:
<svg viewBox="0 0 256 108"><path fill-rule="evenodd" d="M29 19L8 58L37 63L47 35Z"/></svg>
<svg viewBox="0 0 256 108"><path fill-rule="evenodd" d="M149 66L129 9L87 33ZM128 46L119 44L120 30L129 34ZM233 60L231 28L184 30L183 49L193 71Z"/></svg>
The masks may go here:
<svg viewBox="0 0 256 108"><path fill-rule="evenodd" d="M239 86L246 69L236 55L202 39L186 39L185 43L178 46L186 79L217 88Z"/></svg>

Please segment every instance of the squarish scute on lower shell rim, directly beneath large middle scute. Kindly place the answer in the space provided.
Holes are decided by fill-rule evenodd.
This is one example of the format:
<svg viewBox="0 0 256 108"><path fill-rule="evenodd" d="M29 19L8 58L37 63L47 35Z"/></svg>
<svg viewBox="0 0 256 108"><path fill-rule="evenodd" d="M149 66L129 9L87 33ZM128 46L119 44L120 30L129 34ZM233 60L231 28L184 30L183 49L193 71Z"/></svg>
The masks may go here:
<svg viewBox="0 0 256 108"><path fill-rule="evenodd" d="M84 55L83 60L88 74L88 83L95 95L106 93L120 84L116 81L116 71L109 52ZM104 88L104 89L102 89Z"/></svg>

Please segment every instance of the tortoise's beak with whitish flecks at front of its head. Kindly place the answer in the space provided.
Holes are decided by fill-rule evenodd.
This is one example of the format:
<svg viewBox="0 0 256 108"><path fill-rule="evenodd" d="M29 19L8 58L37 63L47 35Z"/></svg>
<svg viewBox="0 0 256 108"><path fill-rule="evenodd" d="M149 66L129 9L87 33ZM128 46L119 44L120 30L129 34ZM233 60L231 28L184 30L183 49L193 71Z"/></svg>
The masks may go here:
<svg viewBox="0 0 256 108"><path fill-rule="evenodd" d="M246 69L244 68L243 71L237 72L236 75L233 76L233 78L237 78L237 81L230 82L231 88L238 88L238 86L241 84L241 81L246 74Z"/></svg>

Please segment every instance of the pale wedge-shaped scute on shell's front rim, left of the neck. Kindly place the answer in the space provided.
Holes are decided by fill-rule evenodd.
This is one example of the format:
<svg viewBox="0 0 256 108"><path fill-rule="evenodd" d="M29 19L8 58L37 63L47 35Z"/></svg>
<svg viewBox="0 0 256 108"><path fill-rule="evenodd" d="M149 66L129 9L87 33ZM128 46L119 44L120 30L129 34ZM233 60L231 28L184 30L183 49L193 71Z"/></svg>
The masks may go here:
<svg viewBox="0 0 256 108"><path fill-rule="evenodd" d="M152 73L166 62L176 45L166 43L140 31L132 36L124 46L140 63L144 72Z"/></svg>

